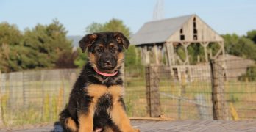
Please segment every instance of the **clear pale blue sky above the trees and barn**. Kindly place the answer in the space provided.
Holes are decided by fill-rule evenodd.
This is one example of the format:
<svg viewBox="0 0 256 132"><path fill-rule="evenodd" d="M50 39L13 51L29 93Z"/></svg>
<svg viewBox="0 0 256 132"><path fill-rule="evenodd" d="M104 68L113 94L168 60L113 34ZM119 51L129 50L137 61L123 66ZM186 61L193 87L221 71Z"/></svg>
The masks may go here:
<svg viewBox="0 0 256 132"><path fill-rule="evenodd" d="M83 35L90 23L105 23L118 18L133 33L152 21L157 0L0 0L0 22L19 29L37 23L48 24L54 18L63 23L68 35ZM254 0L165 0L165 18L197 14L219 34L246 34L256 29Z"/></svg>

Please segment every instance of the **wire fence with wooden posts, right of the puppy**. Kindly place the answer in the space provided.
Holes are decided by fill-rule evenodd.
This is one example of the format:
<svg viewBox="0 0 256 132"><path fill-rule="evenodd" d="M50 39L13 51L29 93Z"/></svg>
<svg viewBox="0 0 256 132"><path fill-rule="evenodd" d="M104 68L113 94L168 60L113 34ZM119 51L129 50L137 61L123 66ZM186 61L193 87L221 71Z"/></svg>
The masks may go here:
<svg viewBox="0 0 256 132"><path fill-rule="evenodd" d="M247 59L147 67L147 112L173 120L255 120L256 66ZM156 81L159 80L159 81ZM159 109L156 109L159 108Z"/></svg>

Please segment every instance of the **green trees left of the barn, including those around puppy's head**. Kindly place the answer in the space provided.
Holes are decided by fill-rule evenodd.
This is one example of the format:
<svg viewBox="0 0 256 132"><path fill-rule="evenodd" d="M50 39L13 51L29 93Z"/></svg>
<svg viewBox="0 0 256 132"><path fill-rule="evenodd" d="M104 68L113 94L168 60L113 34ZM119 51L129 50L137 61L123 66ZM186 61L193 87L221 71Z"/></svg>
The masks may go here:
<svg viewBox="0 0 256 132"><path fill-rule="evenodd" d="M107 23L92 23L85 32L123 32L128 38L130 29L123 21L111 19ZM21 32L10 23L0 23L0 70L3 73L42 69L82 67L87 61L80 48L73 50L63 24L54 19L48 25L38 24ZM135 64L135 47L126 52L126 65Z"/></svg>

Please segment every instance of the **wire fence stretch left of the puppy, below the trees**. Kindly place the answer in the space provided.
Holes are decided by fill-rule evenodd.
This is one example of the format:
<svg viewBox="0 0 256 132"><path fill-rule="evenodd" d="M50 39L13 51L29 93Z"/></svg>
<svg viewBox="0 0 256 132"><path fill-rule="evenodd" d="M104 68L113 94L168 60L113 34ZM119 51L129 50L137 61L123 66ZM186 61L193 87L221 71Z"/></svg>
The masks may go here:
<svg viewBox="0 0 256 132"><path fill-rule="evenodd" d="M76 69L2 73L0 123L23 125L57 120L78 73Z"/></svg>

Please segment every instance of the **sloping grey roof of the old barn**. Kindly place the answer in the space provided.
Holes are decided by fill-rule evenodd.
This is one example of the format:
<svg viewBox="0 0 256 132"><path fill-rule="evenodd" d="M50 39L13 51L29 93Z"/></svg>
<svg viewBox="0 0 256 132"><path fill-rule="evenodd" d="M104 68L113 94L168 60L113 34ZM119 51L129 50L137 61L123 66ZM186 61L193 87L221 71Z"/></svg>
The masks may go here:
<svg viewBox="0 0 256 132"><path fill-rule="evenodd" d="M133 35L131 43L135 45L163 43L191 17L193 17L193 15L168 18L160 21L149 21L145 23L135 35Z"/></svg>

